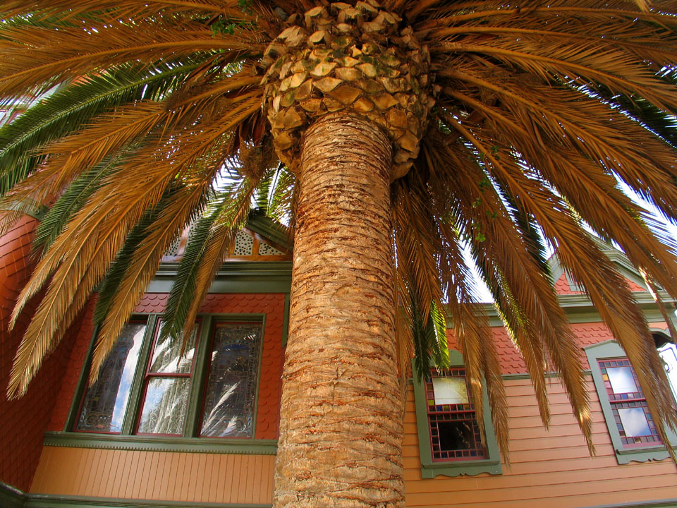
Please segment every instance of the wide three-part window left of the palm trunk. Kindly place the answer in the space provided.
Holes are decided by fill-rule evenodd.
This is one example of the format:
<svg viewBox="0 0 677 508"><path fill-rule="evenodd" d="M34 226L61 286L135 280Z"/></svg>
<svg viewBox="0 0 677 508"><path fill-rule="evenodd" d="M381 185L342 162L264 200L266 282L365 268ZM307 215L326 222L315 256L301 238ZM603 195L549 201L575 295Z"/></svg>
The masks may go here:
<svg viewBox="0 0 677 508"><path fill-rule="evenodd" d="M254 437L263 322L204 321L183 354L181 341L160 339L158 317L130 322L97 382L85 389L72 429L152 438Z"/></svg>

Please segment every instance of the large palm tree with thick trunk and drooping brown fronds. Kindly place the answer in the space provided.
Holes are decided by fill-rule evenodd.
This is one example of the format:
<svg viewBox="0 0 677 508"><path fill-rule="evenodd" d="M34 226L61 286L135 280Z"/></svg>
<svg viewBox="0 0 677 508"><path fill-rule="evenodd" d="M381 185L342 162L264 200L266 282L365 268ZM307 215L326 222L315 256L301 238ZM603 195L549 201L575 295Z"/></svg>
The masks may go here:
<svg viewBox="0 0 677 508"><path fill-rule="evenodd" d="M677 420L659 357L588 231L677 298L676 243L618 183L677 221L676 11L644 0L5 1L3 103L56 88L0 131L2 231L51 205L13 320L44 296L8 394L25 392L104 281L95 377L162 253L195 222L164 316L166 333L190 337L254 203L291 217L295 234L276 507L403 505L398 368L412 352L418 375L444 365L443 308L506 454L504 391L464 246L544 424L551 364L592 449L548 245L628 353L663 436Z"/></svg>

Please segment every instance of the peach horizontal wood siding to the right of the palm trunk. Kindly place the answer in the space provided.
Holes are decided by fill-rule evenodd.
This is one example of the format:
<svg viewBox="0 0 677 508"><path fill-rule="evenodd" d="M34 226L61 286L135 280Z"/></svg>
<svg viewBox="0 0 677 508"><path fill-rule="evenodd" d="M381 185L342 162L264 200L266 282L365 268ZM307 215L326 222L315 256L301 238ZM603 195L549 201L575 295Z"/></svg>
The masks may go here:
<svg viewBox="0 0 677 508"><path fill-rule="evenodd" d="M573 508L677 497L677 471L671 461L618 465L592 378L588 390L597 449L592 459L558 381L549 385L550 430L542 426L530 380L506 380L506 390L511 465L504 464L499 476L482 473L429 480L421 478L413 390L409 390L404 440L408 508Z"/></svg>

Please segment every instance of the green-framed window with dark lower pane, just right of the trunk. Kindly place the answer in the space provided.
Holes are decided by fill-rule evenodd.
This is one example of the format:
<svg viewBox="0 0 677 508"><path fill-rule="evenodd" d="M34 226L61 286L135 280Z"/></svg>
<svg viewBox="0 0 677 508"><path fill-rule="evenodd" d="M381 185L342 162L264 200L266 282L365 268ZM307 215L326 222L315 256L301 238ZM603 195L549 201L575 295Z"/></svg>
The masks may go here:
<svg viewBox="0 0 677 508"><path fill-rule="evenodd" d="M458 351L450 351L449 357L449 369L432 369L422 381L414 379L422 477L500 474L487 395L482 401L487 433L482 444L463 358Z"/></svg>

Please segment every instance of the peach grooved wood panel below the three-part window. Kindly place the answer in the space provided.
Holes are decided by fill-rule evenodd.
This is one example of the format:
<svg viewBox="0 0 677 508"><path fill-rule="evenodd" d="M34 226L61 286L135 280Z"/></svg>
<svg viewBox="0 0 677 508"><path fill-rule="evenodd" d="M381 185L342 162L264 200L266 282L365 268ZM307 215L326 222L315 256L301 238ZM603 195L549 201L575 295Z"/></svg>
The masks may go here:
<svg viewBox="0 0 677 508"><path fill-rule="evenodd" d="M272 455L44 447L30 492L267 504L274 461Z"/></svg>

